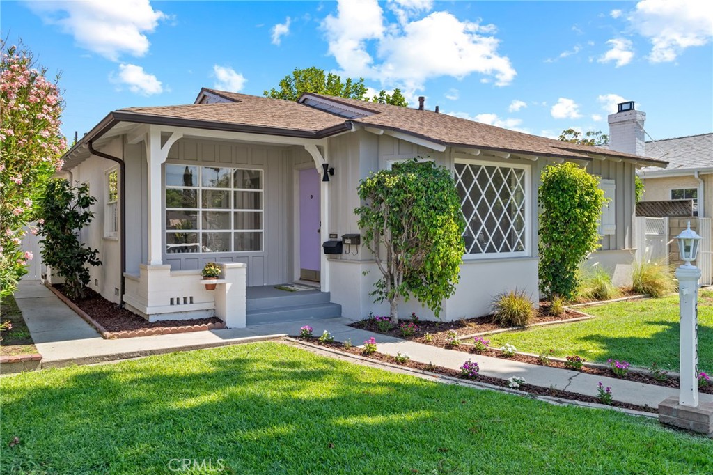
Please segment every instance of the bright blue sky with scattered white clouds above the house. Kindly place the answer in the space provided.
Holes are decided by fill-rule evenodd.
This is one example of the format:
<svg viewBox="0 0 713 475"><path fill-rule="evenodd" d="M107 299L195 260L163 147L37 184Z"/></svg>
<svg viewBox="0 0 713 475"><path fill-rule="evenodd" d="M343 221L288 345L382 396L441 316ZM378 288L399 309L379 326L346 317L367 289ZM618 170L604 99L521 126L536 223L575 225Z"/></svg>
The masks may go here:
<svg viewBox="0 0 713 475"><path fill-rule="evenodd" d="M109 111L262 95L317 66L411 106L557 136L637 101L655 139L713 131L713 2L3 1L1 33L61 71L63 132Z"/></svg>

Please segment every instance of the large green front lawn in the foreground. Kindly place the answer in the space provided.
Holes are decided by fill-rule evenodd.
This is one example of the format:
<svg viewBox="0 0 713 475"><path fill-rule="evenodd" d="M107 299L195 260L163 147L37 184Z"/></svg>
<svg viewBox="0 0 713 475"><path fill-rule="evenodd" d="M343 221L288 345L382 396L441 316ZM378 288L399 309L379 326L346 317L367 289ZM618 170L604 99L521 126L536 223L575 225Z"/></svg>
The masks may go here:
<svg viewBox="0 0 713 475"><path fill-rule="evenodd" d="M235 474L713 472L709 439L652 419L279 343L48 369L0 389L4 474L164 474L171 459L222 459Z"/></svg>

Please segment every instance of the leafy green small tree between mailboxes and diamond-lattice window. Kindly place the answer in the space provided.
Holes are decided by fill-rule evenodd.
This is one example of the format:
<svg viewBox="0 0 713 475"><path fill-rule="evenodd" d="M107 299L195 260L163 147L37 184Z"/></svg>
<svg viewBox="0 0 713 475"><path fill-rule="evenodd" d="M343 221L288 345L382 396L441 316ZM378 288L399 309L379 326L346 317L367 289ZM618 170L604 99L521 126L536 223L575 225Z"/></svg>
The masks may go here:
<svg viewBox="0 0 713 475"><path fill-rule="evenodd" d="M465 252L451 172L414 159L371 173L358 191L364 204L354 213L382 276L370 294L374 302L389 302L394 323L399 298L415 297L437 317L443 299L456 291Z"/></svg>

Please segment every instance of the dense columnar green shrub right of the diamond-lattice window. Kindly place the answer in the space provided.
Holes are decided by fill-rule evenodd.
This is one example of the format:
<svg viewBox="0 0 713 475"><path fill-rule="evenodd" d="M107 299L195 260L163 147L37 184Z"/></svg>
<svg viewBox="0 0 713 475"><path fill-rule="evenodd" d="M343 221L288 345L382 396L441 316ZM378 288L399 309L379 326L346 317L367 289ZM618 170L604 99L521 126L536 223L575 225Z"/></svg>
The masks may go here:
<svg viewBox="0 0 713 475"><path fill-rule="evenodd" d="M599 247L604 191L599 178L575 163L562 163L542 171L538 199L540 290L569 300L579 287L580 265Z"/></svg>

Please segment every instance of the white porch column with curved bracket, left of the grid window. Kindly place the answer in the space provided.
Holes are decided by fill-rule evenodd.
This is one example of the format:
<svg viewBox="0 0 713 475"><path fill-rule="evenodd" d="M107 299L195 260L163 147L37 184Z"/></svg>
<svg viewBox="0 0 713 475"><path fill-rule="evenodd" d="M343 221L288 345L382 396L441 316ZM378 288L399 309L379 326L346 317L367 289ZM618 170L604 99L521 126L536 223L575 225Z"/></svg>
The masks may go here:
<svg viewBox="0 0 713 475"><path fill-rule="evenodd" d="M146 161L148 162L148 265L161 265L163 249L163 186L161 185L161 165L168 157L171 145L183 137L183 133L173 132L165 143L161 143L161 131L150 126L146 137Z"/></svg>

